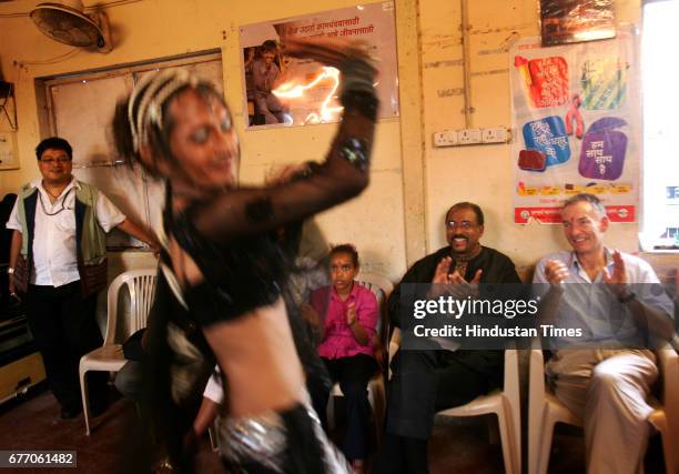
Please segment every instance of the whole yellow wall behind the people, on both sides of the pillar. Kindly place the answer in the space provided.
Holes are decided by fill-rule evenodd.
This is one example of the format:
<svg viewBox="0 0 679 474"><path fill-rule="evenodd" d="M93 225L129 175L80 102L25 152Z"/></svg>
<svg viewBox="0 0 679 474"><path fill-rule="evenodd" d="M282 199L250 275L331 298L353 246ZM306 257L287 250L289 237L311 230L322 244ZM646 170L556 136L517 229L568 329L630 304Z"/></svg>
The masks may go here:
<svg viewBox="0 0 679 474"><path fill-rule="evenodd" d="M0 6L29 11L34 1ZM87 4L91 2L85 1ZM535 263L566 245L557 226L518 226L511 213L509 145L434 149L432 133L464 128L460 7L457 0L397 0L402 117L377 130L371 188L358 200L320 216L331 242L352 241L369 270L397 280L406 262L445 244L443 218L454 202L478 202L487 214L484 243L517 264ZM37 174L39 141L33 78L114 67L190 51L222 49L225 94L241 128L241 178L260 181L273 163L321 159L335 127L314 125L243 132L239 26L349 7L351 1L144 0L108 9L115 47L109 54L80 52L50 64L17 68L69 51L43 37L30 19L0 18L0 58L6 80L17 83L21 169L0 171L0 193ZM474 127L509 125L508 54L514 37L538 33L537 0L468 0ZM639 0L617 2L618 21L638 21ZM452 95L449 94L452 91ZM608 243L637 251L637 225L616 225Z"/></svg>

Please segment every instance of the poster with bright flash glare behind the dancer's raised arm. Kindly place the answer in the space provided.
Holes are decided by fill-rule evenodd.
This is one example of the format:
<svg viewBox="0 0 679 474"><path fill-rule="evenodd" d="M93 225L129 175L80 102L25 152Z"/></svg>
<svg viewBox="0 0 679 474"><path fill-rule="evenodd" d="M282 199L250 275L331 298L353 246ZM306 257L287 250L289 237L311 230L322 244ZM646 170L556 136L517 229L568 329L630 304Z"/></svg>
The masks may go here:
<svg viewBox="0 0 679 474"><path fill-rule="evenodd" d="M340 121L340 72L285 56L282 38L326 37L364 43L376 60L379 119L398 117L394 3L372 3L241 28L247 127Z"/></svg>

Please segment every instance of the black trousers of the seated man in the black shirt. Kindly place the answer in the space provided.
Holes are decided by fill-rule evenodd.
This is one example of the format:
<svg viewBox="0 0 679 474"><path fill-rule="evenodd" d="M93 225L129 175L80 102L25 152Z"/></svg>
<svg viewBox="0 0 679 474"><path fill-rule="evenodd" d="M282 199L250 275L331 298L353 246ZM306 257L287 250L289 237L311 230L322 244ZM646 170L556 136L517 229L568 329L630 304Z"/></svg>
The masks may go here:
<svg viewBox="0 0 679 474"><path fill-rule="evenodd" d="M499 386L503 369L501 351L398 351L375 473L427 473L427 441L436 412Z"/></svg>

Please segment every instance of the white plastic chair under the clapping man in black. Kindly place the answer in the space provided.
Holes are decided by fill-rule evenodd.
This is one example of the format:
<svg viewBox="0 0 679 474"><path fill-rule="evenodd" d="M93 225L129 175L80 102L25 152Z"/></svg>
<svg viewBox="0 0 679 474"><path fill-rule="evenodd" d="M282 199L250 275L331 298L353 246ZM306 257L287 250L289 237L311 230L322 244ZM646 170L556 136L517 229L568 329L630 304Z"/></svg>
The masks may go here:
<svg viewBox="0 0 679 474"><path fill-rule="evenodd" d="M401 344L401 331L394 329L389 341L389 361ZM464 382L460 382L464 383ZM500 432L505 473L521 472L521 404L519 397L518 350L505 350L503 390L479 395L469 403L437 413L439 416L480 416L495 414Z"/></svg>

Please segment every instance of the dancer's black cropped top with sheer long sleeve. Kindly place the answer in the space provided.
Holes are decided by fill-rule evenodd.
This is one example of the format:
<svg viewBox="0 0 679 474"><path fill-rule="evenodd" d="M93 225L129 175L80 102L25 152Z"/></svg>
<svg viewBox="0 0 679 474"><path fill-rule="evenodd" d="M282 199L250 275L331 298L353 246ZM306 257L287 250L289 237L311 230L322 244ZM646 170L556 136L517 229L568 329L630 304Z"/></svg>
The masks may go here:
<svg viewBox="0 0 679 474"><path fill-rule="evenodd" d="M366 94L365 100L376 99ZM184 290L189 312L201 325L276 301L290 262L272 231L346 201L367 185L364 168L373 131L365 127L372 125L368 120L354 108L345 109L327 160L304 179L229 190L174 216L166 213L168 234L204 275Z"/></svg>

